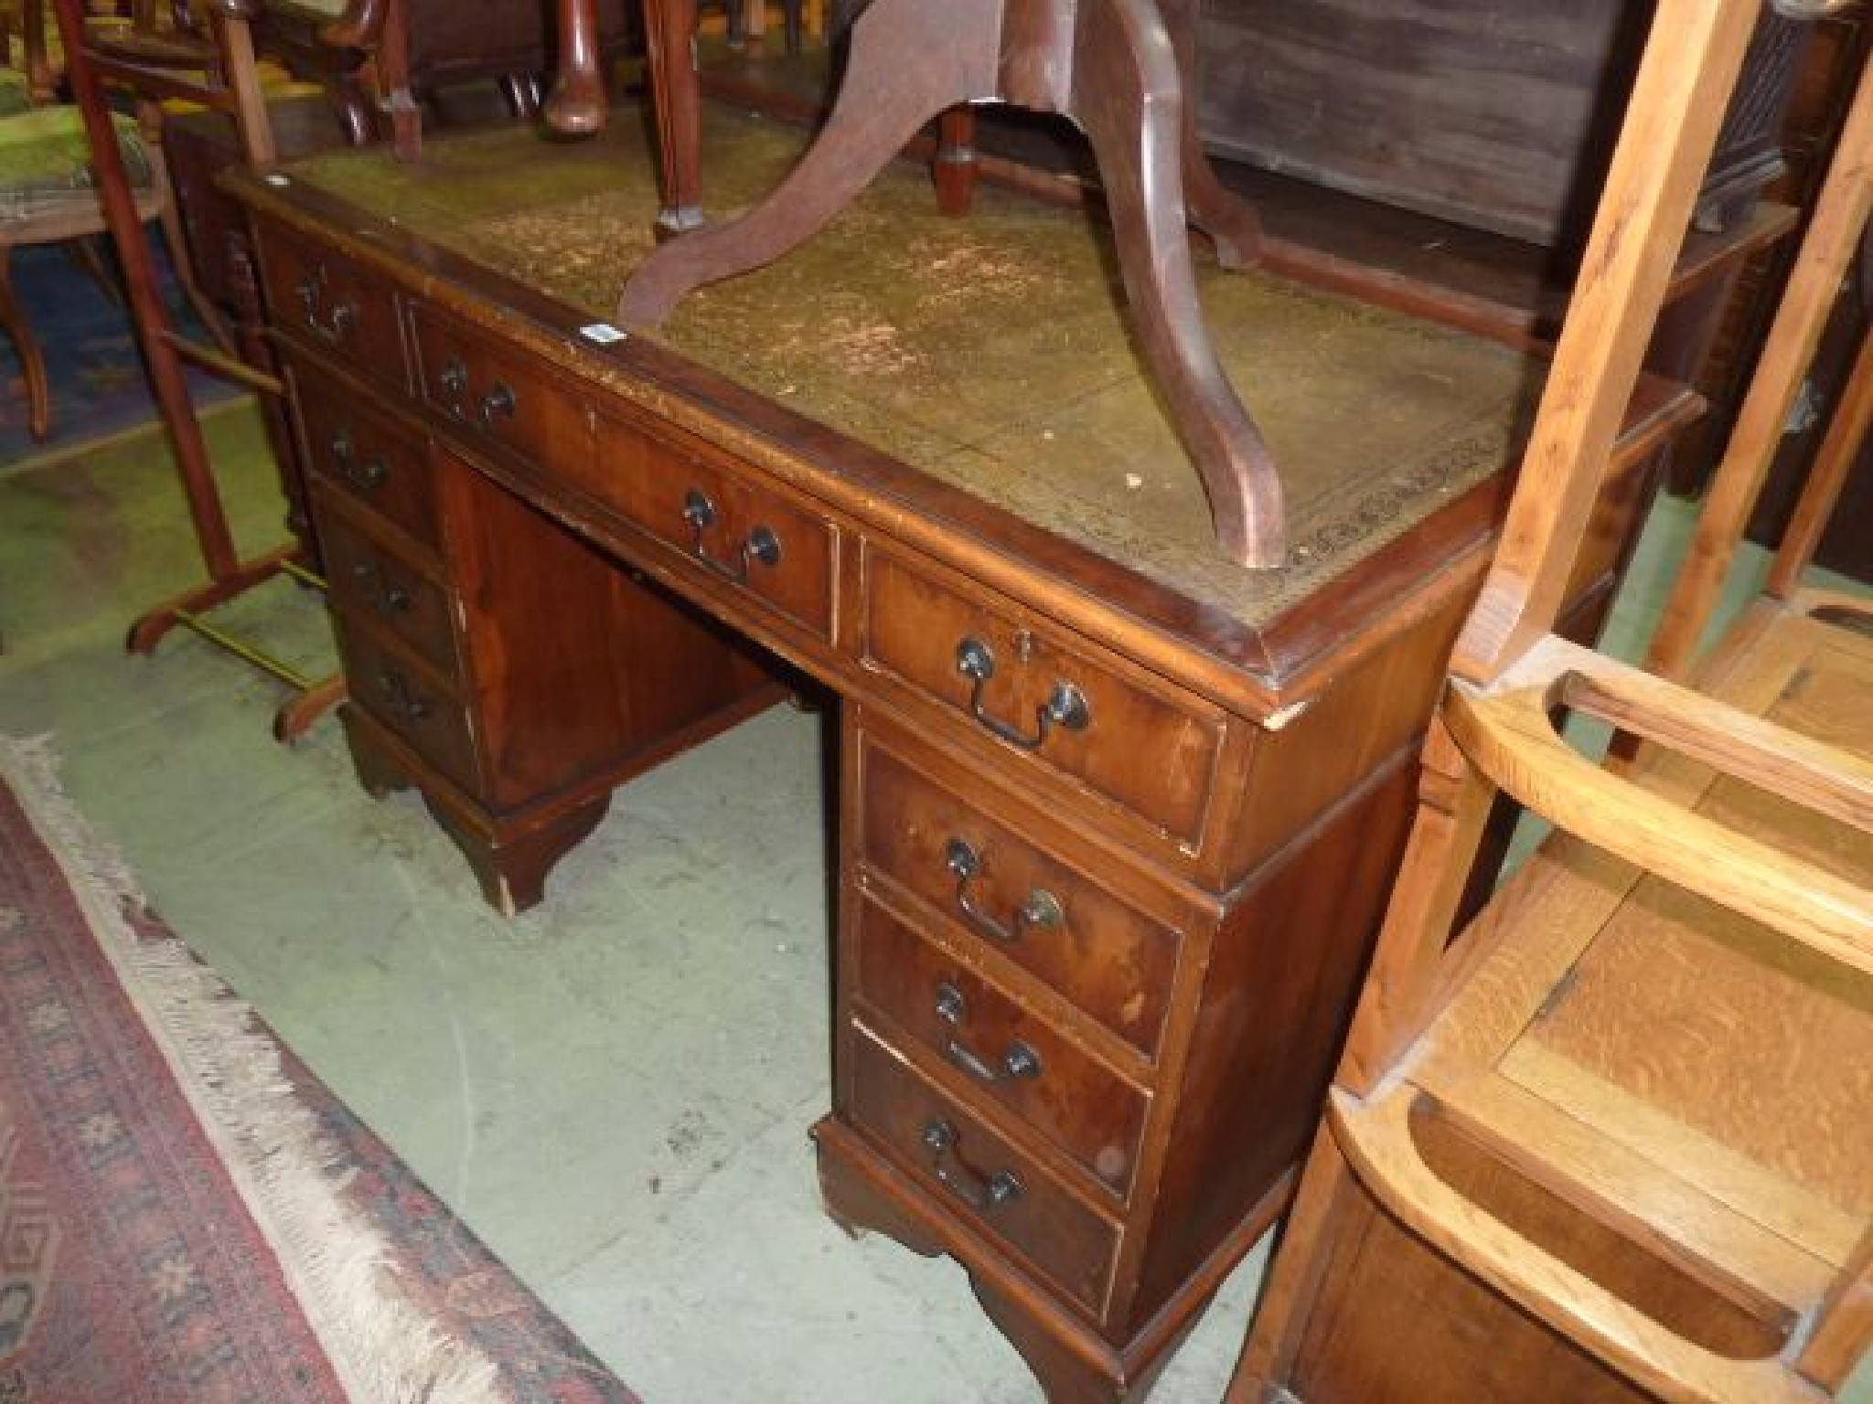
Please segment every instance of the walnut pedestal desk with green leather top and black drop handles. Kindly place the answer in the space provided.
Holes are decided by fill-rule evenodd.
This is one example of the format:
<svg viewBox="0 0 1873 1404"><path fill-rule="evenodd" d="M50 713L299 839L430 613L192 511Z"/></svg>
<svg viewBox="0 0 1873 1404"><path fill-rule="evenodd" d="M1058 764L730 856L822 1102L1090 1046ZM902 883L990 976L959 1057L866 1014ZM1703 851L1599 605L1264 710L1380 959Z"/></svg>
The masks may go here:
<svg viewBox="0 0 1873 1404"><path fill-rule="evenodd" d="M708 120L723 208L796 150ZM657 210L635 133L232 191L365 784L420 786L524 906L616 782L777 696L775 659L832 689L826 1204L961 1260L1049 1398L1139 1397L1285 1204L1540 365L1202 270L1290 504L1289 565L1251 573L1075 212L946 221L888 174L614 339ZM1635 402L1583 618L1693 412Z"/></svg>

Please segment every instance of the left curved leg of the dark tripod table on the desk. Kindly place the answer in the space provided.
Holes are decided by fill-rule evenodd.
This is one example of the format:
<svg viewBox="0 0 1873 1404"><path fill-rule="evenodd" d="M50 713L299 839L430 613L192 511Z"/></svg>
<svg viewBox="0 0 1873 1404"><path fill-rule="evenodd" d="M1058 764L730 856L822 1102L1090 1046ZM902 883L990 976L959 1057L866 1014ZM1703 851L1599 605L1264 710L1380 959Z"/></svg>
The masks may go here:
<svg viewBox="0 0 1873 1404"><path fill-rule="evenodd" d="M657 9L646 6L646 13ZM740 219L652 253L624 285L618 322L656 326L693 288L774 262L824 228L931 114L993 95L996 15L996 0L877 0L867 7L852 24L845 84L800 165Z"/></svg>

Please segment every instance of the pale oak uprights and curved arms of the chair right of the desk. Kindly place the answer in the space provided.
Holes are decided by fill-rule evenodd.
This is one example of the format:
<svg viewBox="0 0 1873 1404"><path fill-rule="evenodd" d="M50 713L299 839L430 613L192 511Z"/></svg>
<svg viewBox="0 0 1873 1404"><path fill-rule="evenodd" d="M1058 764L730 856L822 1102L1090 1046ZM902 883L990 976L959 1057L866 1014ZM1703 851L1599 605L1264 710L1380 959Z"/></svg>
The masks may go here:
<svg viewBox="0 0 1873 1404"><path fill-rule="evenodd" d="M1425 745L1405 865L1326 1121L1231 1385L1231 1404L1292 1398L1287 1382L1309 1314L1320 1307L1332 1230L1356 1191L1555 1335L1661 1398L1813 1404L1832 1398L1873 1340L1873 1232L1864 1226L1832 1236L1830 1260L1845 1267L1779 1355L1725 1355L1650 1320L1465 1200L1429 1170L1410 1129L1425 1099L1448 1097L1452 1106L1470 1099L1474 1106L1478 1097L1495 1097L1487 1125L1491 1134L1506 1136L1512 1153L1562 1163L1573 1183L1586 1187L1588 1200L1598 1189L1609 1200L1615 1191L1631 1192L1633 1179L1620 1157L1600 1144L1575 1153L1566 1118L1541 1118L1513 1097L1504 1101L1502 1090L1478 1075L1491 1061L1491 1048L1480 1043L1500 1037L1515 1018L1538 1016L1555 994L1541 973L1566 977L1573 955L1536 951L1523 962L1530 973L1519 1009L1480 1011L1476 998L1467 1000L1470 983L1504 940L1504 923L1487 912L1452 936L1498 792L1598 850L1762 923L1824 962L1873 973L1873 895L1864 885L1697 814L1669 786L1644 786L1590 764L1558 738L1553 721L1556 708L1598 713L1650 741L1654 756L1659 751L1682 756L1873 835L1873 766L1864 758L1656 676L1680 674L1704 631L1779 427L1866 227L1873 204L1873 79L1862 75L1828 185L1659 631L1656 672L1622 666L1553 635L1618 412L1633 389L1755 9L1751 0L1658 6L1654 41L1628 109L1502 545L1459 638L1446 702ZM1804 13L1817 9L1809 6ZM1852 393L1839 406L1770 580L1770 595L1787 601L1794 616L1843 610L1873 618L1866 601L1796 588L1873 417L1869 382L1873 352L1864 346ZM1523 951L1515 955L1521 960ZM1491 994L1500 996L1500 988ZM1491 1020L1500 1028L1491 1031ZM1665 1221L1684 1209L1682 1204L1652 1207ZM1729 1228L1718 1224L1704 1230L1703 1247L1721 1260L1731 1243L1723 1237ZM1622 1226L1644 1236L1641 1221ZM1794 1264L1796 1254L1787 1258L1770 1262L1762 1273L1800 1277L1806 1269ZM1734 1290L1746 1295L1755 1288L1738 1280Z"/></svg>

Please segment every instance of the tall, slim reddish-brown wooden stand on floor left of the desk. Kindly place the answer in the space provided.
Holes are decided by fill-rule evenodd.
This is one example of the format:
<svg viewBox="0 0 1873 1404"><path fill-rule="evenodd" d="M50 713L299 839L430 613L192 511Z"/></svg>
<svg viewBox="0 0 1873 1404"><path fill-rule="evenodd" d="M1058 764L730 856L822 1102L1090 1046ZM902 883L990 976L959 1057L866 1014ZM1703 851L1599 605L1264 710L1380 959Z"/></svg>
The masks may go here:
<svg viewBox="0 0 1873 1404"><path fill-rule="evenodd" d="M266 116L258 67L253 52L253 19L257 0L214 0L206 15L206 34L212 49L199 47L199 34L189 26L174 34L155 34L142 26L131 32L101 32L86 24L84 0L56 0L58 30L66 51L66 73L84 131L92 146L92 165L97 178L97 198L105 225L111 230L118 260L124 266L131 320L142 346L150 388L157 414L169 436L182 477L195 537L202 552L208 578L195 590L163 601L142 614L129 631L129 648L148 653L174 627L189 629L245 663L285 681L292 695L273 721L275 736L292 739L305 730L333 702L343 698L343 680L315 680L298 672L264 648L221 629L210 616L217 605L245 593L253 586L281 575L303 584L322 586L317 575L317 548L311 541L288 541L255 558L242 558L236 548L202 425L189 397L185 365L202 367L236 384L258 391L275 406L285 388L272 371L270 348L260 331L251 271L240 279L249 307L243 309L240 354L204 346L180 331L155 292L155 270L148 241L140 238L135 212L127 150L120 140L120 125L112 120L107 88L135 94L137 103L154 107L165 99L200 103L223 112L234 122L245 159L255 167L273 163L273 133ZM277 427L270 416L270 425ZM273 451L281 464L288 502L296 504L296 470L290 446L273 434ZM294 513L303 520L303 513Z"/></svg>

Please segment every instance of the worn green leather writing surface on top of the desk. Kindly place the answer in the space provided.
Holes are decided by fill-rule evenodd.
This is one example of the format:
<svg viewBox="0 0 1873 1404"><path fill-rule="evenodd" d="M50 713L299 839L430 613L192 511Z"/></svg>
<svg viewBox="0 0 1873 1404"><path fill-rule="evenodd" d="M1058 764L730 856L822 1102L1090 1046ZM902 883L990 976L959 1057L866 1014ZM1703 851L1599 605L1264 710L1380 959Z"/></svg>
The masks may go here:
<svg viewBox="0 0 1873 1404"><path fill-rule="evenodd" d="M802 137L710 110L710 213L774 185ZM641 124L603 140L524 129L435 137L421 163L378 150L298 180L543 288L596 318L652 247ZM1128 333L1118 264L1069 208L978 189L936 215L897 165L819 238L702 288L654 333L689 359L1259 625L1512 457L1540 365L1461 331L1199 253L1210 333L1262 427L1289 498L1289 565L1247 571L1214 545L1186 459Z"/></svg>

